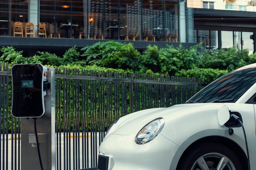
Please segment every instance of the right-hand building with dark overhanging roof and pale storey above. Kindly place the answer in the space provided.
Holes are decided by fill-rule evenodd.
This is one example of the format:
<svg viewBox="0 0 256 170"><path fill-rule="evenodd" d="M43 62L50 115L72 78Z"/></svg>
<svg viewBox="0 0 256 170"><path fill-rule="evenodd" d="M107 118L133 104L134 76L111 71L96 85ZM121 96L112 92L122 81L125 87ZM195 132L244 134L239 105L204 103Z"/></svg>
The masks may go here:
<svg viewBox="0 0 256 170"><path fill-rule="evenodd" d="M255 0L187 0L193 9L194 42L206 48L255 52Z"/></svg>

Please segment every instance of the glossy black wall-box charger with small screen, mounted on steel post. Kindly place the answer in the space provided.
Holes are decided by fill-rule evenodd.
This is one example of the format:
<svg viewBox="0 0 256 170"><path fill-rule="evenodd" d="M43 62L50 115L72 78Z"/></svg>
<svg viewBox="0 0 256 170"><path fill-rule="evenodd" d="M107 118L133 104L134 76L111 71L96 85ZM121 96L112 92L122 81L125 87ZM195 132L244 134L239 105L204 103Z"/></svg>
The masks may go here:
<svg viewBox="0 0 256 170"><path fill-rule="evenodd" d="M12 74L12 114L14 117L40 117L43 115L43 65L17 64Z"/></svg>

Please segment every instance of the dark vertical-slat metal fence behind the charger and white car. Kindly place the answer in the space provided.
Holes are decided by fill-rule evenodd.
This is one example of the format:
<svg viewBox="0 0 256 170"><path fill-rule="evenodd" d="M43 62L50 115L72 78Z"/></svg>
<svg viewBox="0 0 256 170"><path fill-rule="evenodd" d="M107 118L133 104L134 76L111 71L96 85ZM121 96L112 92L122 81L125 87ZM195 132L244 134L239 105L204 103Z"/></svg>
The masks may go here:
<svg viewBox="0 0 256 170"><path fill-rule="evenodd" d="M55 68L56 170L97 166L99 145L113 121L128 113L180 104L200 79ZM11 115L10 65L0 65L0 169L20 170L20 118Z"/></svg>

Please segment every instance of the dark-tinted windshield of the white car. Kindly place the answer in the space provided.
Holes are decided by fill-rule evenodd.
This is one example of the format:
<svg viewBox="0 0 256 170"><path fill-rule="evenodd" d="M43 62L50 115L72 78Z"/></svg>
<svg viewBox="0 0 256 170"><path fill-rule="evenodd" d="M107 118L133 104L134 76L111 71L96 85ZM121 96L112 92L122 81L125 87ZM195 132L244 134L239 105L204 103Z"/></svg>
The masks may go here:
<svg viewBox="0 0 256 170"><path fill-rule="evenodd" d="M256 65L249 65L218 78L186 103L236 102L255 82Z"/></svg>

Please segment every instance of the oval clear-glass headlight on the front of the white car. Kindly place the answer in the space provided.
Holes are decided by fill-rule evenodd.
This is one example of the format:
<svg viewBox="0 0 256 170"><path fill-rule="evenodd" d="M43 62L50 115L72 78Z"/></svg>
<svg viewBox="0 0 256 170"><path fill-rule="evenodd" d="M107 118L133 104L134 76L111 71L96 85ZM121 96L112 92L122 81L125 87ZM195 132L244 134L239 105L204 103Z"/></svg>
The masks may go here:
<svg viewBox="0 0 256 170"><path fill-rule="evenodd" d="M136 144L146 144L153 140L164 128L164 118L157 118L146 124L136 135Z"/></svg>

